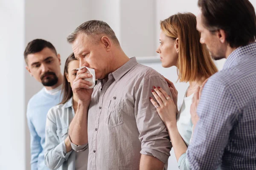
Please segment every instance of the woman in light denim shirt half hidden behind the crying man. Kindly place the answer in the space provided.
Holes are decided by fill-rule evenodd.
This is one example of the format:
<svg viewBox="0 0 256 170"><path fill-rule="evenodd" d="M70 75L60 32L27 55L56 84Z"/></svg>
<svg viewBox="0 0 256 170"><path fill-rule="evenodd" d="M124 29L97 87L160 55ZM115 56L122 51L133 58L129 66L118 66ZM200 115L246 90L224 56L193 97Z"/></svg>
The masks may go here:
<svg viewBox="0 0 256 170"><path fill-rule="evenodd" d="M67 133L78 106L72 91L77 68L79 61L71 54L64 68L63 99L47 113L44 159L47 167L54 170L87 170L88 147L75 152Z"/></svg>

